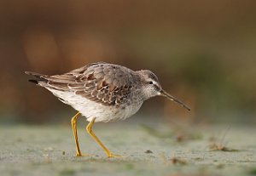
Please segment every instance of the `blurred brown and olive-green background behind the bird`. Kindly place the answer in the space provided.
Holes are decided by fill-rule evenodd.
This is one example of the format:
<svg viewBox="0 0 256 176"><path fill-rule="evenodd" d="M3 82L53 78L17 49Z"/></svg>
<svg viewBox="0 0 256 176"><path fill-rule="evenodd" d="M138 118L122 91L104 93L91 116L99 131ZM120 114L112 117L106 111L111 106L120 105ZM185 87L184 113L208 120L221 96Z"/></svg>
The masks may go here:
<svg viewBox="0 0 256 176"><path fill-rule="evenodd" d="M75 111L24 71L106 61L154 71L192 109L154 98L141 120L255 124L255 9L253 0L2 0L0 122L69 123Z"/></svg>

